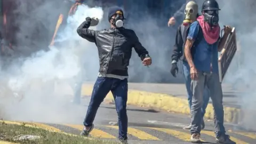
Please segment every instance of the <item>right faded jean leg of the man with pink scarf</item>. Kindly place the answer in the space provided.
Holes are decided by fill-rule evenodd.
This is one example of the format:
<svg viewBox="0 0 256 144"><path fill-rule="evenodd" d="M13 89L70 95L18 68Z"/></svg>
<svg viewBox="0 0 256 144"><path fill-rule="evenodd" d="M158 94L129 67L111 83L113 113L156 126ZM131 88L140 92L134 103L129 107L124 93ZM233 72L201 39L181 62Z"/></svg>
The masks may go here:
<svg viewBox="0 0 256 144"><path fill-rule="evenodd" d="M219 82L219 75L212 73L206 78L206 85L209 87L210 96L212 99L212 105L214 108L215 118L215 133L217 136L225 134L226 130L223 125L224 122L224 110L222 105L222 88Z"/></svg>

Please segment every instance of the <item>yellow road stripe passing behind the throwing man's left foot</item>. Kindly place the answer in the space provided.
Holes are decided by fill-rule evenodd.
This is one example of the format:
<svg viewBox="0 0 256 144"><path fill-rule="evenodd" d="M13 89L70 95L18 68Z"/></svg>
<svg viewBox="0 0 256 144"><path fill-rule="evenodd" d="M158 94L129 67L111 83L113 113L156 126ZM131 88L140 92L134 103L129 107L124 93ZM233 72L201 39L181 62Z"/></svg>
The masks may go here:
<svg viewBox="0 0 256 144"><path fill-rule="evenodd" d="M84 129L83 125L74 125L74 124L65 124L65 125L81 131ZM113 135L98 129L93 129L90 135L92 135L92 137L99 137L99 138L108 138L108 139L116 138Z"/></svg>

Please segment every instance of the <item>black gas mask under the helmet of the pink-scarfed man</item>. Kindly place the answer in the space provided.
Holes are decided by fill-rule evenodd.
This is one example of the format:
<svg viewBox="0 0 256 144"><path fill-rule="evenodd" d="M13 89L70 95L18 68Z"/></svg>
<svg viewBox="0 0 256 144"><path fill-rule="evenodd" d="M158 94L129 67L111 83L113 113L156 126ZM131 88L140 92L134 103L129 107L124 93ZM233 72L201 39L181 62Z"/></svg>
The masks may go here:
<svg viewBox="0 0 256 144"><path fill-rule="evenodd" d="M203 13L204 21L209 23L211 27L218 26L219 24L219 11L218 10L206 10Z"/></svg>

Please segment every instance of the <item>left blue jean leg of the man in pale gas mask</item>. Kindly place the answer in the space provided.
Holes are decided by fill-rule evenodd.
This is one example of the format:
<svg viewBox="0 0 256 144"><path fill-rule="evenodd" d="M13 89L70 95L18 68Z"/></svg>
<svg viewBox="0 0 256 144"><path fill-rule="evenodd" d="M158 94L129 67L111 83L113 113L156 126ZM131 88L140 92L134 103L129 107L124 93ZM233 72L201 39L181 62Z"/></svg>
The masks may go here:
<svg viewBox="0 0 256 144"><path fill-rule="evenodd" d="M186 89L188 94L188 106L191 111L191 102L192 102L193 93L191 91L190 67L188 65L188 62L183 61L182 68L183 68L183 76L185 79L185 84L186 84Z"/></svg>

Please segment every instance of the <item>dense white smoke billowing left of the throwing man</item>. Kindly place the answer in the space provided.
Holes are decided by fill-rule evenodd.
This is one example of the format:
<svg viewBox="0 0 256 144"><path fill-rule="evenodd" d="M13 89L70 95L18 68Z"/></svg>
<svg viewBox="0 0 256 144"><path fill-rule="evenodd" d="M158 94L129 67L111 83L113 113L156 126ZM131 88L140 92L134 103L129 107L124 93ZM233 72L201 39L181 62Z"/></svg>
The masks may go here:
<svg viewBox="0 0 256 144"><path fill-rule="evenodd" d="M86 17L101 20L103 10L79 5L76 13L68 17L67 26L58 31L57 46L51 46L47 52L38 51L28 58L13 60L0 72L0 104L1 113L4 113L0 113L0 118L4 115L3 118L8 119L62 123L70 118L67 117L70 111L74 114L74 109L65 106L67 97L64 96L74 96L72 88L82 78L83 54L95 47L79 37L76 31ZM34 25L30 27L33 29ZM91 57L97 57L98 54L94 54Z"/></svg>

